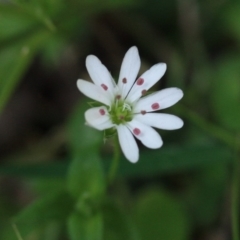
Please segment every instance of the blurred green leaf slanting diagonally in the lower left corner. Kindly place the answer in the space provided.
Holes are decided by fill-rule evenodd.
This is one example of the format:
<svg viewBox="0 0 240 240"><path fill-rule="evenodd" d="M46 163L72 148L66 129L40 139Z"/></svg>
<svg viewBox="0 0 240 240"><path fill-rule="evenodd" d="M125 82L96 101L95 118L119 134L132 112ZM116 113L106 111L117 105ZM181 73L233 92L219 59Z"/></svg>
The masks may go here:
<svg viewBox="0 0 240 240"><path fill-rule="evenodd" d="M65 192L55 192L26 207L14 219L22 237L48 224L49 221L64 221L73 209L73 200Z"/></svg>

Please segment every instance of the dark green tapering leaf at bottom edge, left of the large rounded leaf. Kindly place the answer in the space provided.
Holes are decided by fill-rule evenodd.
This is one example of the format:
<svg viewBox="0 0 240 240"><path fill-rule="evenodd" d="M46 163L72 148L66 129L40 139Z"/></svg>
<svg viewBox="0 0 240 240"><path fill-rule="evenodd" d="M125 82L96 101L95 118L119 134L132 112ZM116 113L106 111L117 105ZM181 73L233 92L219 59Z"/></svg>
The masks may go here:
<svg viewBox="0 0 240 240"><path fill-rule="evenodd" d="M113 200L103 204L104 240L138 240L136 226L129 216Z"/></svg>

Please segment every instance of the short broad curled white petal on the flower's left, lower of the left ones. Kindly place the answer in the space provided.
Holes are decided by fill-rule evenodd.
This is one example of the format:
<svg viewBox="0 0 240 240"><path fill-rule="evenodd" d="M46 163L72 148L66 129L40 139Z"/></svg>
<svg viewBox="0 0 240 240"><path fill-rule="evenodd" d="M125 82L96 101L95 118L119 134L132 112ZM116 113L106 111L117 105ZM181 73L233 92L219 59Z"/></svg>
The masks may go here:
<svg viewBox="0 0 240 240"><path fill-rule="evenodd" d="M104 115L101 114L103 111L105 112ZM85 112L85 119L88 125L98 130L104 130L114 126L109 118L107 108L104 106L88 109Z"/></svg>

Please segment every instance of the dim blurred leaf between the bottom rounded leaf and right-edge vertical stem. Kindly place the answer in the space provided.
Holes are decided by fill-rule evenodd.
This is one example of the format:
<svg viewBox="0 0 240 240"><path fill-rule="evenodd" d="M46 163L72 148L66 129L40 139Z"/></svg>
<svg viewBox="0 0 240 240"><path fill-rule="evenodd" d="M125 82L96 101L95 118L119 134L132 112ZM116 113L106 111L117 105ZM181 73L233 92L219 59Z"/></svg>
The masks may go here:
<svg viewBox="0 0 240 240"><path fill-rule="evenodd" d="M183 203L197 225L209 226L216 221L224 204L229 174L224 163L194 173L183 195Z"/></svg>

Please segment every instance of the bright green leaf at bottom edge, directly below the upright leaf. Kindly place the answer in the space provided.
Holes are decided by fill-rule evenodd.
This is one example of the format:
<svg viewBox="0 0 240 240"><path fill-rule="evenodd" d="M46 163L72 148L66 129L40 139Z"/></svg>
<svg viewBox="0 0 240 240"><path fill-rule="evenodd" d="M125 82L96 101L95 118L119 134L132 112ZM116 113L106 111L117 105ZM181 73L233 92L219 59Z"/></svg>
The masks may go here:
<svg viewBox="0 0 240 240"><path fill-rule="evenodd" d="M100 212L90 217L73 213L68 219L68 232L71 240L102 240L103 221Z"/></svg>

